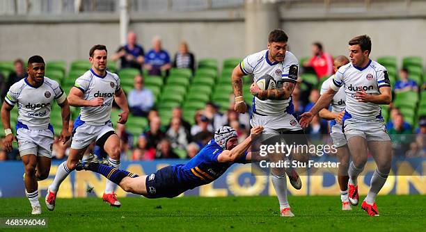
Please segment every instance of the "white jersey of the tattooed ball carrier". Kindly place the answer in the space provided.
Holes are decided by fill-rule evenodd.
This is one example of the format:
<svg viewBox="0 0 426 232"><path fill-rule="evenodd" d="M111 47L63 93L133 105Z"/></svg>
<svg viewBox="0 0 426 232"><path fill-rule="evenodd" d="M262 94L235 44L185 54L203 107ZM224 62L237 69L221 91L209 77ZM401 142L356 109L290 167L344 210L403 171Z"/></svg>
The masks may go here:
<svg viewBox="0 0 426 232"><path fill-rule="evenodd" d="M253 74L254 82L265 74L274 77L276 88L283 88L284 82L296 83L299 63L296 56L290 51L285 53L283 62L271 63L268 60L268 50L251 54L244 58L239 67L244 74ZM262 101L253 97L253 113L260 115L281 115L283 113L293 113L292 98L285 100L265 100Z"/></svg>

